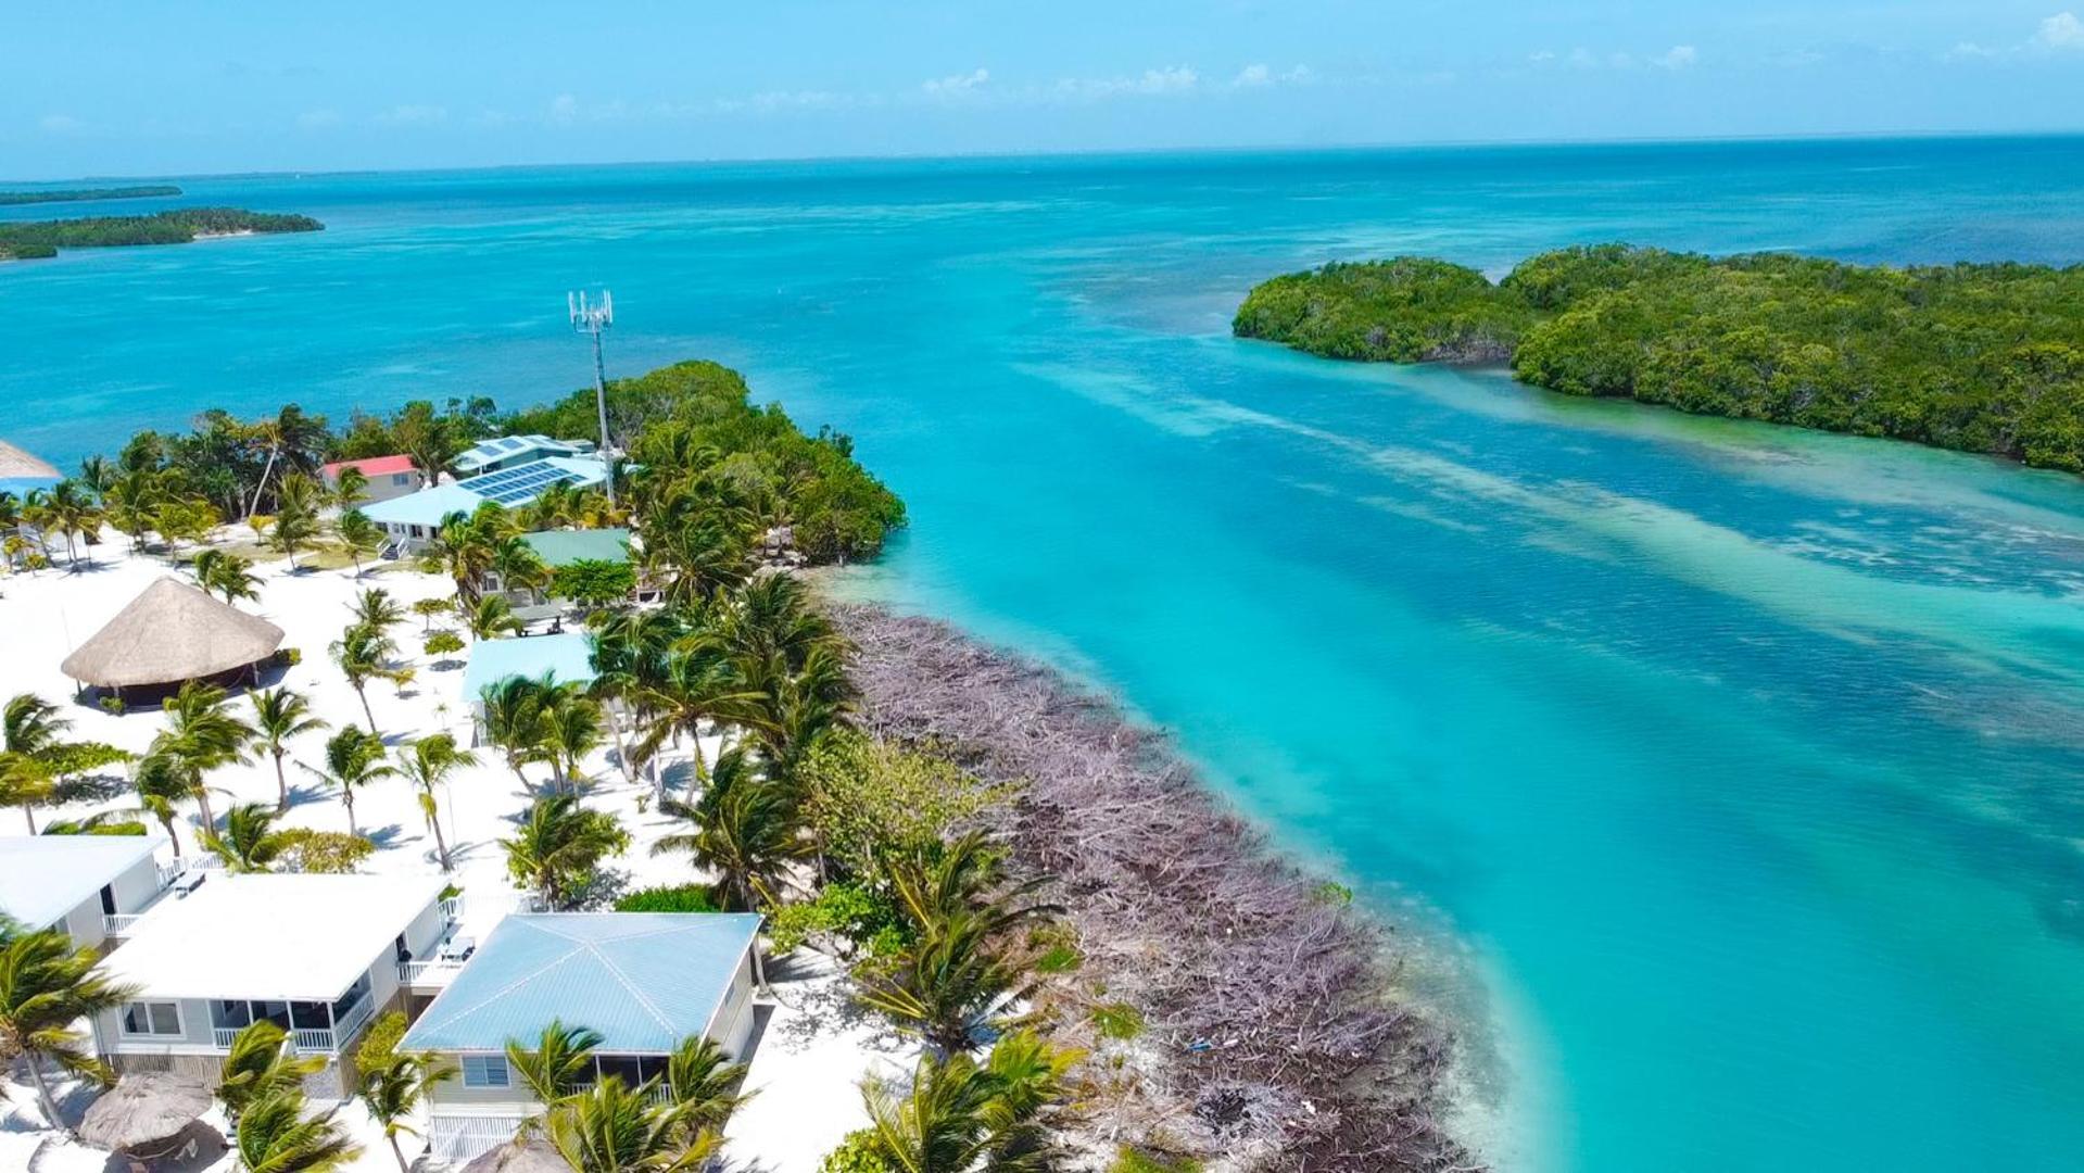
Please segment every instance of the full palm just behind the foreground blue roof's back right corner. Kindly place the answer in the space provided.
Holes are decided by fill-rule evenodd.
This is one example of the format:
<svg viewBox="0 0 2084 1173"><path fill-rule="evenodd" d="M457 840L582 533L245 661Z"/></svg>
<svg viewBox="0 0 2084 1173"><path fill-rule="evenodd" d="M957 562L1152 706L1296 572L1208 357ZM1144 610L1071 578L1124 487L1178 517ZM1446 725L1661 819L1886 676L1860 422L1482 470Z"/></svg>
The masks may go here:
<svg viewBox="0 0 2084 1173"><path fill-rule="evenodd" d="M696 867L717 877L715 894L725 910L752 913L779 904L790 865L813 850L802 838L792 796L754 775L736 748L717 758L715 779L696 804L667 802L665 813L690 821L694 829L663 835L652 854L694 856Z"/></svg>

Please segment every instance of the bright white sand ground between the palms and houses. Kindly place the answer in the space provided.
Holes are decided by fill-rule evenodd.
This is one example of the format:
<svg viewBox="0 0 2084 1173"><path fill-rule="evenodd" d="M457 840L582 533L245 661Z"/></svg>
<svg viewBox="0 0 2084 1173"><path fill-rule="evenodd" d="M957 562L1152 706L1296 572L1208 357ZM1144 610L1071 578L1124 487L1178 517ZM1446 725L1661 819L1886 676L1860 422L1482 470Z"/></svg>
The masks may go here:
<svg viewBox="0 0 2084 1173"><path fill-rule="evenodd" d="M104 713L92 704L73 702L73 681L65 679L58 665L65 656L98 631L127 602L163 575L185 581L185 571L169 567L165 558L127 552L129 542L121 535L106 535L94 548L94 567L79 573L50 569L33 575L0 577L0 631L6 631L6 646L0 652L0 698L33 692L46 700L60 702L63 715L73 721L69 731L75 740L98 740L125 750L144 750L165 727L156 708L140 708L123 717ZM294 688L313 700L315 710L333 727L342 723L363 723L363 706L354 690L327 656L327 646L340 638L348 623L348 604L365 585L381 585L404 606L423 598L446 598L452 583L438 575L427 575L408 565L390 563L373 569L361 579L352 569L313 569L292 573L288 563L263 563L254 567L260 577L260 598L242 602L244 610L263 615L286 633L283 648L298 648L302 663L286 669L281 685ZM427 733L448 731L463 746L471 744L471 706L461 694L467 658L452 656L458 667L436 671L429 656L421 654L421 619L408 617L394 631L404 663L415 669L415 679L398 690L390 683L369 688L369 704L377 727L390 744L411 742ZM246 713L246 700L235 696L233 713ZM348 819L338 796L325 792L319 779L298 763L317 760L325 733L306 735L292 748L290 788L292 808L281 819L281 827L315 827L346 831ZM715 744L704 746L713 754ZM496 750L483 750L479 765L458 773L442 800L442 831L454 856L452 881L463 888L465 933L483 940L498 917L504 917L517 892L506 879L506 860L498 840L511 833L513 819L527 806L529 794L517 783ZM688 752L667 758L667 777L681 781ZM640 813L638 800L646 796L650 783L629 783L617 769L611 754L596 754L588 763L594 781L588 804L613 810L634 835L631 850L611 860L611 869L625 873L629 888L652 883L686 883L700 879L686 856L652 856L650 844L669 829L671 819L656 813ZM542 767L529 769L531 777L542 777ZM223 817L235 802L275 800L273 763L263 752L248 765L229 767L210 777L213 810ZM129 808L129 792L117 794L100 804L75 804L40 808L38 825L58 817L81 817L94 810ZM194 810L181 825L181 850L196 852ZM427 831L415 792L402 779L386 779L356 794L356 825L371 835L379 850L363 867L377 873L423 873L438 875L433 835ZM19 810L0 810L0 833L23 833ZM202 946L198 946L202 948ZM736 1163L767 1169L773 1173L815 1171L819 1158L832 1150L846 1131L865 1123L857 1081L871 1067L892 1063L909 1067L915 1048L892 1038L882 1023L863 1017L848 1006L838 977L819 971L815 965L775 965L775 994L761 1000L765 1019L761 1044L752 1056L750 1090L752 1102L731 1121L727 1156ZM811 973L813 977L798 977ZM19 1090L17 1090L19 1092ZM83 1108L85 1098L75 1106ZM33 1169L40 1173L100 1169L104 1154L60 1144L54 1133L35 1127L40 1117L33 1100L17 1094L4 1106L8 1117L0 1117L0 1169ZM342 1108L342 1119L352 1121L367 1152L356 1169L396 1169L379 1131L367 1119L358 1102ZM417 1142L406 1138L406 1152L417 1152ZM229 1158L210 1169L229 1167Z"/></svg>

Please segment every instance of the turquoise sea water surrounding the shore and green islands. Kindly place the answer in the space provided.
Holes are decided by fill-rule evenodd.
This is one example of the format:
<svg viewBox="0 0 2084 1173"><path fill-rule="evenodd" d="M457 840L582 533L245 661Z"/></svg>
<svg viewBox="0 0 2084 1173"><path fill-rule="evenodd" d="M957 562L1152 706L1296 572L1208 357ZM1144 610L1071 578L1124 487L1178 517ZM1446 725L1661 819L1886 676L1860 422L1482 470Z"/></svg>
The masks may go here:
<svg viewBox="0 0 2084 1173"><path fill-rule="evenodd" d="M183 183L329 229L0 267L0 433L523 402L606 283L613 371L738 365L904 494L859 590L1117 690L1465 948L1505 1163L2084 1160L2084 481L1227 338L1390 252L2074 263L2084 142Z"/></svg>

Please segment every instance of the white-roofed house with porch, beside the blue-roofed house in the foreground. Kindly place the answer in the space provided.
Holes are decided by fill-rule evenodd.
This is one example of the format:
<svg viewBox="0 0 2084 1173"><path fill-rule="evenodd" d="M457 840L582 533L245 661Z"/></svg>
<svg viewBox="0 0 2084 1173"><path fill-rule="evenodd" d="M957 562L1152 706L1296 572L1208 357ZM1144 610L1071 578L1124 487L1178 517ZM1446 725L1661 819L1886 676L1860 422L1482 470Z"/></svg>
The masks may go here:
<svg viewBox="0 0 2084 1173"><path fill-rule="evenodd" d="M96 1050L117 1071L210 1073L242 1027L269 1019L298 1052L333 1058L311 1092L344 1096L338 1056L454 927L442 892L421 875L208 875L104 963L138 998L94 1023Z"/></svg>

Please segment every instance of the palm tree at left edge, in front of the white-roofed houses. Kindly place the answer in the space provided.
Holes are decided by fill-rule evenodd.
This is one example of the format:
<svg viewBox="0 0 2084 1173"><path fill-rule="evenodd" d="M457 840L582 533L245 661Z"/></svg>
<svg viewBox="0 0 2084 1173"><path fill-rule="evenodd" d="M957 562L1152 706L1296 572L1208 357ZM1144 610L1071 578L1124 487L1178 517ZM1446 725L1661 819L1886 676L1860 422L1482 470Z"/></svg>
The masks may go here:
<svg viewBox="0 0 2084 1173"><path fill-rule="evenodd" d="M73 1131L58 1119L44 1065L52 1063L104 1088L115 1083L115 1073L94 1058L88 1035L77 1025L135 996L133 988L108 981L100 971L100 954L73 948L71 938L58 929L0 940L0 1069L13 1069L17 1060L29 1069L35 1100L50 1127Z"/></svg>

